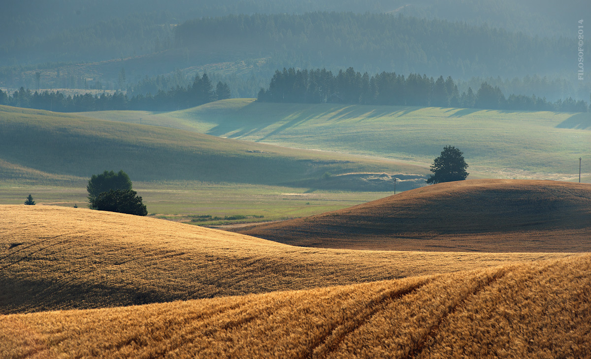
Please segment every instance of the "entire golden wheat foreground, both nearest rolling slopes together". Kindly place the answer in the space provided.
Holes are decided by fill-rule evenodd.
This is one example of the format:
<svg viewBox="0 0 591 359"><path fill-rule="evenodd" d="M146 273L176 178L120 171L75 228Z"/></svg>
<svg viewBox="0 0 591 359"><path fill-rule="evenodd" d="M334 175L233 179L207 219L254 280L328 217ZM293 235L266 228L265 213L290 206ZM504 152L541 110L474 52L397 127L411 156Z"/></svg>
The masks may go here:
<svg viewBox="0 0 591 359"><path fill-rule="evenodd" d="M0 358L584 358L589 293L588 253L294 247L0 205Z"/></svg>

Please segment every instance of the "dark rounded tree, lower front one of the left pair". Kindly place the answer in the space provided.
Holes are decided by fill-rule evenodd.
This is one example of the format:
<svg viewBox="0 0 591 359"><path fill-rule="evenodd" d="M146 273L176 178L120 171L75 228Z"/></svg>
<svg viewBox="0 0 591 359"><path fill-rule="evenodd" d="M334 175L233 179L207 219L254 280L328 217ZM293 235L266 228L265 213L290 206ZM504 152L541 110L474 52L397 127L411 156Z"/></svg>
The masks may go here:
<svg viewBox="0 0 591 359"><path fill-rule="evenodd" d="M146 216L148 210L137 194L134 190L109 190L96 196L90 205L99 211Z"/></svg>

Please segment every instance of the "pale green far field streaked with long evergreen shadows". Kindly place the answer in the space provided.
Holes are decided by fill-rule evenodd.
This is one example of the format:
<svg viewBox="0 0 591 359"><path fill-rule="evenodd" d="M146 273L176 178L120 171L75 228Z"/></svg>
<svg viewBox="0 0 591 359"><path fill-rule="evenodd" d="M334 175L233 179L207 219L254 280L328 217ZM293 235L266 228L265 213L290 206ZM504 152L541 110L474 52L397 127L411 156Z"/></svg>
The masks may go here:
<svg viewBox="0 0 591 359"><path fill-rule="evenodd" d="M440 107L257 103L230 99L167 114L86 113L112 120L299 148L329 149L430 164L460 148L470 171L488 177L578 180L589 158L591 113ZM589 167L583 181L591 182Z"/></svg>

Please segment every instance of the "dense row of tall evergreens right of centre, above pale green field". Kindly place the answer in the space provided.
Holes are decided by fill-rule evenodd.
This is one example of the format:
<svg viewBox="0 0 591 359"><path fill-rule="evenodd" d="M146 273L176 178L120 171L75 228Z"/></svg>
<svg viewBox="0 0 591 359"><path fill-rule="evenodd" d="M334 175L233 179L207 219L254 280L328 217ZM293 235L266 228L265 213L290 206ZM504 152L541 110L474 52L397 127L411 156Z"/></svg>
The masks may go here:
<svg viewBox="0 0 591 359"><path fill-rule="evenodd" d="M474 92L472 87L460 94L457 84L448 76L437 79L394 72L369 76L349 67L336 75L326 69L275 71L268 89L259 91L260 102L346 103L360 105L405 105L467 107L501 110L538 110L559 112L587 112L583 100L549 102L535 95L511 94L505 97L498 86L486 82Z"/></svg>

